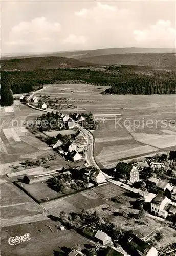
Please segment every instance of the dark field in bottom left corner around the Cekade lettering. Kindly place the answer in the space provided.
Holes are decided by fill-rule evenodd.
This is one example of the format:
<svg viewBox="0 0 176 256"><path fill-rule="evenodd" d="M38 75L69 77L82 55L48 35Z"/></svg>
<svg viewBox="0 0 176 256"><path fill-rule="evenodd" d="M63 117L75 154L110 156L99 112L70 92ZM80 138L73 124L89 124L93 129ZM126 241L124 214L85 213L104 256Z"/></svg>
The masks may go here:
<svg viewBox="0 0 176 256"><path fill-rule="evenodd" d="M51 220L43 220L34 223L26 223L10 227L3 227L1 240L1 255L11 256L51 256L58 255L60 248L71 248L76 244L90 244L86 239L72 230L59 231L56 227L57 222ZM49 229L49 226L53 230ZM23 236L30 233L31 240L18 245L8 244L8 239L12 236Z"/></svg>

